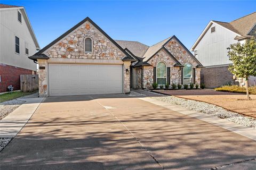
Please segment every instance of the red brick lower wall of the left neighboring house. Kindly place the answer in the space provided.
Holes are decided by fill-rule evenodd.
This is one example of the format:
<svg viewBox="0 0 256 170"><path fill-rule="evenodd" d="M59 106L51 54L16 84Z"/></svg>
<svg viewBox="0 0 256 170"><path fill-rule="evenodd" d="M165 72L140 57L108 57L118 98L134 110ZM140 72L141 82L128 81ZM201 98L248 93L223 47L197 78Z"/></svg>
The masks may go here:
<svg viewBox="0 0 256 170"><path fill-rule="evenodd" d="M33 71L22 69L19 67L0 64L0 92L7 91L7 87L11 84L14 90L20 90L20 74L32 74Z"/></svg>

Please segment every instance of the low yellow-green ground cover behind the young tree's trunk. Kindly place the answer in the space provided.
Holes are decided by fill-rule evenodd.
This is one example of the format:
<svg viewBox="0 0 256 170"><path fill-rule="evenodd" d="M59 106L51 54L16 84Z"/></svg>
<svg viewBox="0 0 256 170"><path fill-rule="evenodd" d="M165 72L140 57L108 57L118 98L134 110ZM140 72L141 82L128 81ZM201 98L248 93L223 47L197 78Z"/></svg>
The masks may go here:
<svg viewBox="0 0 256 170"><path fill-rule="evenodd" d="M225 92L237 92L240 94L246 94L246 88L245 87L239 87L236 85L233 86L222 86L219 88L215 88L216 91L225 91ZM250 95L256 95L256 86L249 87L249 94Z"/></svg>

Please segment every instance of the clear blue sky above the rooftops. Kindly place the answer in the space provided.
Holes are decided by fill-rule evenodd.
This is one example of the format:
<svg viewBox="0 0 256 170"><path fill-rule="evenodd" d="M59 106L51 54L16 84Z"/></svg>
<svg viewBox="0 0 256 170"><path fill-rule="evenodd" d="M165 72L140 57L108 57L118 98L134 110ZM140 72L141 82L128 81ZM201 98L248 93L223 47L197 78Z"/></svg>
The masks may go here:
<svg viewBox="0 0 256 170"><path fill-rule="evenodd" d="M188 48L210 20L230 22L256 1L3 1L25 6L41 48L89 16L111 38L153 45L172 35Z"/></svg>

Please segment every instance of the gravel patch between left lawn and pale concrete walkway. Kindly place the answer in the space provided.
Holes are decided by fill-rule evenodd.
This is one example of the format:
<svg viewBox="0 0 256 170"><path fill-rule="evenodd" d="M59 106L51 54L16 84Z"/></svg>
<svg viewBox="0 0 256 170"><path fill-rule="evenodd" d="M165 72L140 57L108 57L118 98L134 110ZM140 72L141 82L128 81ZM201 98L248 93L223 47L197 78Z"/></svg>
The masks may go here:
<svg viewBox="0 0 256 170"><path fill-rule="evenodd" d="M25 101L13 99L9 101L4 101L0 103L0 120L7 116L9 113L14 111L16 108L18 108L20 105L25 103Z"/></svg>

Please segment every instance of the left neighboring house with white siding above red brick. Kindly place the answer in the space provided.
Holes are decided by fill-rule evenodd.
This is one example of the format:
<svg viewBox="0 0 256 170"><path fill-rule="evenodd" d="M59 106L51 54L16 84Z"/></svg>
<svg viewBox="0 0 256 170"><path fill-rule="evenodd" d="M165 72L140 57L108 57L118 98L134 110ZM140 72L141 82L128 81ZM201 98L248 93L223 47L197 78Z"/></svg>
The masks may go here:
<svg viewBox="0 0 256 170"><path fill-rule="evenodd" d="M33 74L36 63L28 56L39 50L25 8L0 4L0 92L12 84L20 89L20 74Z"/></svg>

